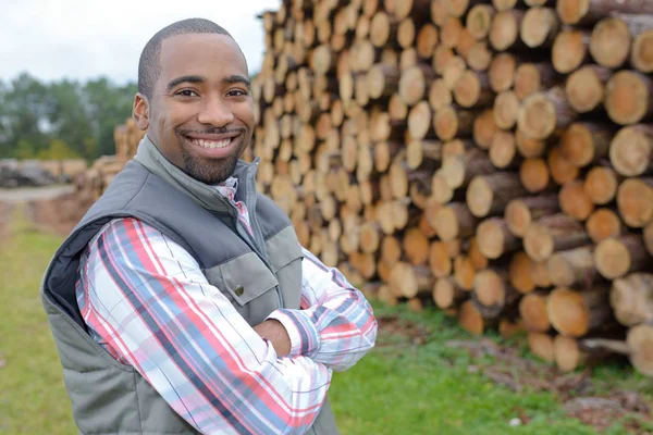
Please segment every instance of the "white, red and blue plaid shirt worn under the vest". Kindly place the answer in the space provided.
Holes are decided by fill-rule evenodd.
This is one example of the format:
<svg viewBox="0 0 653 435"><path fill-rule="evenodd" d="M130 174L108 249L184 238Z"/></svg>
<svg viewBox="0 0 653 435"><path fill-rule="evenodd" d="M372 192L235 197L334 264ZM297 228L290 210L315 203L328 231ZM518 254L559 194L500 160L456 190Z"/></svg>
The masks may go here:
<svg viewBox="0 0 653 435"><path fill-rule="evenodd" d="M237 185L221 186L248 223ZM84 252L76 294L93 337L134 366L204 434L304 433L332 371L354 365L375 340L362 295L304 249L301 309L280 309L291 353L278 358L195 259L135 219L108 223Z"/></svg>

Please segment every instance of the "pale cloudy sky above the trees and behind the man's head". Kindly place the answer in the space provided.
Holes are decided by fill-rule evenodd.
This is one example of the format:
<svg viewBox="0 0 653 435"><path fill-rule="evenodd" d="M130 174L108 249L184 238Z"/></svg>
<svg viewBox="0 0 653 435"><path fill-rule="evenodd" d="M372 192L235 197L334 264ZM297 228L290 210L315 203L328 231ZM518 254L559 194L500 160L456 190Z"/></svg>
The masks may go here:
<svg viewBox="0 0 653 435"><path fill-rule="evenodd" d="M256 17L281 0L0 0L0 80L22 72L40 80L136 80L138 57L159 29L204 17L238 42L250 72L264 51Z"/></svg>

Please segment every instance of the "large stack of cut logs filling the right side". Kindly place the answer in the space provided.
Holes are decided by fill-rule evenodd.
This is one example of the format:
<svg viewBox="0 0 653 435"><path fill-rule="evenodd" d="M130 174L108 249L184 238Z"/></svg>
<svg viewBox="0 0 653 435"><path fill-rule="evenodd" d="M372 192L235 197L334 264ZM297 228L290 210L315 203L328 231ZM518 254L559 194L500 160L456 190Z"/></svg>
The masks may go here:
<svg viewBox="0 0 653 435"><path fill-rule="evenodd" d="M259 188L325 264L653 374L653 1L284 0ZM251 157L251 154L249 154Z"/></svg>

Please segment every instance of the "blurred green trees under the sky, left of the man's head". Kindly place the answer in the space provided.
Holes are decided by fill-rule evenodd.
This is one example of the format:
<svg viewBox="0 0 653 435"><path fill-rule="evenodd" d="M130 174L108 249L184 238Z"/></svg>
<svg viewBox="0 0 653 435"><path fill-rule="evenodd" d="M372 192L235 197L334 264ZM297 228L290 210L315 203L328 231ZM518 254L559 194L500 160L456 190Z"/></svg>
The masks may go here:
<svg viewBox="0 0 653 435"><path fill-rule="evenodd" d="M24 73L0 83L0 159L50 156L54 140L65 144L66 156L113 154L113 128L132 114L136 91L106 77L41 83Z"/></svg>

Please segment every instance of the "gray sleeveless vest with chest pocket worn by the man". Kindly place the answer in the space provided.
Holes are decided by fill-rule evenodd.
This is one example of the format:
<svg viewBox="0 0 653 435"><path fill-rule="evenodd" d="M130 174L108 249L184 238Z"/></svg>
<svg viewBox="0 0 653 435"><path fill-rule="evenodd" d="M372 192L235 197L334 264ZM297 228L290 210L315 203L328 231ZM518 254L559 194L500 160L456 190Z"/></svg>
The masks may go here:
<svg viewBox="0 0 653 435"><path fill-rule="evenodd" d="M272 200L245 191L242 178L254 177L249 165L239 164L235 175L242 182L236 200L246 200L255 237L238 228L235 210L210 212L132 161L54 254L41 299L79 433L197 433L134 368L97 344L81 316L75 298L79 256L112 219L137 217L184 247L250 325L280 307L299 308L303 253L293 226ZM308 433L337 434L328 401Z"/></svg>

